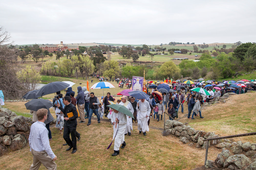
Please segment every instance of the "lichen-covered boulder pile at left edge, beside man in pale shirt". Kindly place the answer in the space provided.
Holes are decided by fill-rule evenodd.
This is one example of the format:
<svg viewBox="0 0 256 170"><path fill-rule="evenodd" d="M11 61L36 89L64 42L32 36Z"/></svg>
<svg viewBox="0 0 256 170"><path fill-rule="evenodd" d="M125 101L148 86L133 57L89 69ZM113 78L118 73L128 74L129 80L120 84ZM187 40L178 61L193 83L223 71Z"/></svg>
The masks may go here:
<svg viewBox="0 0 256 170"><path fill-rule="evenodd" d="M8 151L23 148L28 142L31 118L0 106L0 156Z"/></svg>

